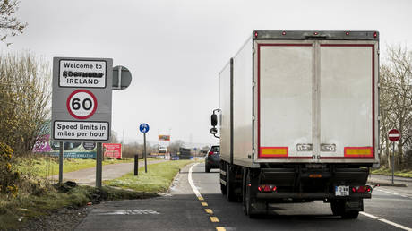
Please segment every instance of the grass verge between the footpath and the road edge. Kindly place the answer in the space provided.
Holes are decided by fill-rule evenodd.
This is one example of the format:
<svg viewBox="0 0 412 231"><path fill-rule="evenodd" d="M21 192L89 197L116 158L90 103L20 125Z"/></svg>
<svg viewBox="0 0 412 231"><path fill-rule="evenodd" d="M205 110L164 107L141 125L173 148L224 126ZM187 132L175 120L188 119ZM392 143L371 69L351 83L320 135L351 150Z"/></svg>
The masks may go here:
<svg viewBox="0 0 412 231"><path fill-rule="evenodd" d="M139 175L128 173L114 180L104 181L107 186L132 189L136 192L163 193L166 192L179 169L193 160L166 161L148 166L148 173L139 168Z"/></svg>

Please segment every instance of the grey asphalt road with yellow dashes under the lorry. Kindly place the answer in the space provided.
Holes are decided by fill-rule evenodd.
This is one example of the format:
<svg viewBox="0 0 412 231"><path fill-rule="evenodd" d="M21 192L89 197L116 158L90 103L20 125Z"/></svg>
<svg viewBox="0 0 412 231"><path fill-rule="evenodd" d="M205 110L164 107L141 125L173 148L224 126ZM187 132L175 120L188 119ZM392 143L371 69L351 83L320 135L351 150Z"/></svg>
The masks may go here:
<svg viewBox="0 0 412 231"><path fill-rule="evenodd" d="M198 164L182 169L170 192L159 198L96 205L76 230L412 230L409 195L378 187L353 220L333 216L322 201L272 204L269 215L250 219L241 203L220 194L219 170L208 174Z"/></svg>

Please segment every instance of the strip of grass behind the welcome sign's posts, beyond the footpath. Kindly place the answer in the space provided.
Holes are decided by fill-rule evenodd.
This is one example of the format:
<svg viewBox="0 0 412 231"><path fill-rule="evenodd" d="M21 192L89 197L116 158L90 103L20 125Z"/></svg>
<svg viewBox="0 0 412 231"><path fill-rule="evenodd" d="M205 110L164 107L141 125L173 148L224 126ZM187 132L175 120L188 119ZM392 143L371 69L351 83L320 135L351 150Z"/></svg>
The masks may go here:
<svg viewBox="0 0 412 231"><path fill-rule="evenodd" d="M148 158L153 160L152 158ZM130 163L134 159L105 159L103 165ZM141 162L142 159L139 159ZM96 167L96 159L82 159L82 158L64 158L63 172L70 173L85 168ZM49 175L58 175L58 158L54 157L33 157L33 158L19 158L17 159L16 170L23 174L30 174L39 177L47 177Z"/></svg>

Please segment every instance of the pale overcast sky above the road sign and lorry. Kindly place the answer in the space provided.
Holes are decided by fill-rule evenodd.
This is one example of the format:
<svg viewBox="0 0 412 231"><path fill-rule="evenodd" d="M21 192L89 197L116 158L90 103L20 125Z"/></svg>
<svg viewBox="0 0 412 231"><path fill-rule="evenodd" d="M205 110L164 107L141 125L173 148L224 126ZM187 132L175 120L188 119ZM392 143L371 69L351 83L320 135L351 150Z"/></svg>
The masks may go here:
<svg viewBox="0 0 412 231"><path fill-rule="evenodd" d="M412 1L21 0L29 25L5 52L107 57L132 73L113 92L112 128L124 141L216 143L210 114L219 107L219 71L253 30L379 30L381 50L412 48ZM201 145L201 144L199 144Z"/></svg>

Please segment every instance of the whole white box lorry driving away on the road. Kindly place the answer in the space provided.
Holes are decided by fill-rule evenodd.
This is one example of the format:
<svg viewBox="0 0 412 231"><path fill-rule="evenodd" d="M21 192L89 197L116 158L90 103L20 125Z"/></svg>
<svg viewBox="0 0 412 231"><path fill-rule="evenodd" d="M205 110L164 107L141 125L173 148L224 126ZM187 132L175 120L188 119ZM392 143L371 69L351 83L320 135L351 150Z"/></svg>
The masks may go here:
<svg viewBox="0 0 412 231"><path fill-rule="evenodd" d="M250 217L321 200L357 218L379 165L378 74L377 31L253 31L219 73L211 116L227 200Z"/></svg>

